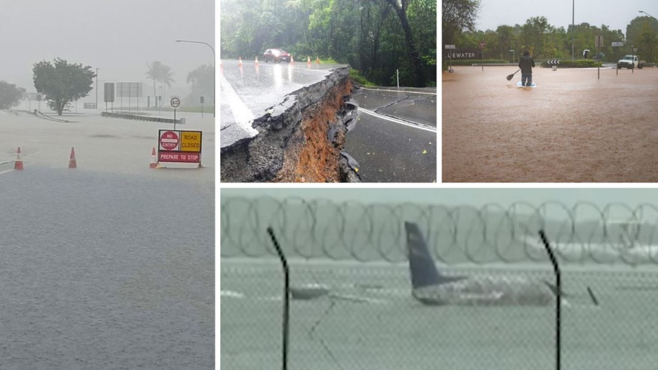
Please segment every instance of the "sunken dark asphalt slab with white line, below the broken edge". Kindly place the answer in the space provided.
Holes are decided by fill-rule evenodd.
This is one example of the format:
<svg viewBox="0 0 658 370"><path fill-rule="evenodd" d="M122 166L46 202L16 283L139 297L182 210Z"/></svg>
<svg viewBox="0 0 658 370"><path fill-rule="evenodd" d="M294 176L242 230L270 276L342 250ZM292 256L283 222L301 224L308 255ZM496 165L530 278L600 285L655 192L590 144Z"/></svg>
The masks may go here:
<svg viewBox="0 0 658 370"><path fill-rule="evenodd" d="M345 152L364 182L436 181L436 88L361 88Z"/></svg>

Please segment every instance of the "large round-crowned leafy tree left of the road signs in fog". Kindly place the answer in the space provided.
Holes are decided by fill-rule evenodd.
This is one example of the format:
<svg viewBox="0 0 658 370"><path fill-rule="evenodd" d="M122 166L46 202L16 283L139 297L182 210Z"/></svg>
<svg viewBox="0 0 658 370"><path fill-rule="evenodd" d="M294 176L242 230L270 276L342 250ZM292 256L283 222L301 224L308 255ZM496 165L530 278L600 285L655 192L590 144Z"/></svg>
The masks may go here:
<svg viewBox="0 0 658 370"><path fill-rule="evenodd" d="M44 95L44 100L58 116L62 115L68 103L88 95L96 77L91 66L68 64L61 58L55 58L53 63L45 60L35 63L32 73L34 87Z"/></svg>

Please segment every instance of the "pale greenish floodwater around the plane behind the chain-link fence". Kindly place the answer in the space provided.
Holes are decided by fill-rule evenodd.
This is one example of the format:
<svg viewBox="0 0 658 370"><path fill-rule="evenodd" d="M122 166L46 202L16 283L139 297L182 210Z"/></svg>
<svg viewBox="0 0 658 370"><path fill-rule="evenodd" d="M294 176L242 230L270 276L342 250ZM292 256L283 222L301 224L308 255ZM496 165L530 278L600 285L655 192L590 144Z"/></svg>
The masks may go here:
<svg viewBox="0 0 658 370"><path fill-rule="evenodd" d="M293 260L290 266L291 284L321 283L336 293L291 301L290 369L555 369L555 306L423 306L411 297L406 264ZM548 266L444 269L553 279ZM280 264L222 258L221 274L222 365L279 367ZM655 368L655 267L566 268L563 287L570 296L562 306L562 369Z"/></svg>

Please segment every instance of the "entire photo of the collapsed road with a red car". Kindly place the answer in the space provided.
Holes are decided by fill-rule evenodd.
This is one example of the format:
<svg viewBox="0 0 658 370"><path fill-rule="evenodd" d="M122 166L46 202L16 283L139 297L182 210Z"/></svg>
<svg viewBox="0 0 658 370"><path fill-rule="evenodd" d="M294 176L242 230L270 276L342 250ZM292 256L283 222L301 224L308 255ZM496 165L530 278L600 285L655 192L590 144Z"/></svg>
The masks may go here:
<svg viewBox="0 0 658 370"><path fill-rule="evenodd" d="M222 182L437 181L437 1L220 5Z"/></svg>

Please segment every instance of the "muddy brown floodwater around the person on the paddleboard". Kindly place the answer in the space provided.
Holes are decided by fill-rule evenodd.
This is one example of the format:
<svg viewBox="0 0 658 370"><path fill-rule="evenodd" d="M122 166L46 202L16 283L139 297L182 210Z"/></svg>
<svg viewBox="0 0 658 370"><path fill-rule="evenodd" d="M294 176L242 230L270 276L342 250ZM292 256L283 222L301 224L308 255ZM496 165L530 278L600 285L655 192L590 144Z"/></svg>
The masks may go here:
<svg viewBox="0 0 658 370"><path fill-rule="evenodd" d="M658 182L658 68L454 67L443 182Z"/></svg>

